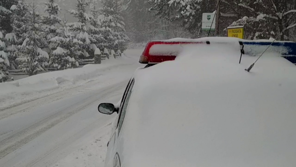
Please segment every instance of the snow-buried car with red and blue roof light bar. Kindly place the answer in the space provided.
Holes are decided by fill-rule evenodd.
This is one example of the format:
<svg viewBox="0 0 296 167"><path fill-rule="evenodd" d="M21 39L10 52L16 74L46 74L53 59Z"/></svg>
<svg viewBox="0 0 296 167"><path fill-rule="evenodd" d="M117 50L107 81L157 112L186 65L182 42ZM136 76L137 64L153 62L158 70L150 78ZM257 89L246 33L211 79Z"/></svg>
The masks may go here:
<svg viewBox="0 0 296 167"><path fill-rule="evenodd" d="M296 66L283 58L295 43L275 42L245 70L269 44L148 43L140 62L159 64L136 70L120 104L98 107L118 113L105 166L295 167Z"/></svg>

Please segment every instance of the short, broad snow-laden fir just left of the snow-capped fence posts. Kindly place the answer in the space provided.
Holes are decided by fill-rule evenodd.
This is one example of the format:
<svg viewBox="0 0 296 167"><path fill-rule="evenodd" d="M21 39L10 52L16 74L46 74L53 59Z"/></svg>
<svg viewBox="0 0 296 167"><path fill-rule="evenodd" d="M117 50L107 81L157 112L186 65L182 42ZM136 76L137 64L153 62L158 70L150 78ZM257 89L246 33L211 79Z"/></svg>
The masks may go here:
<svg viewBox="0 0 296 167"><path fill-rule="evenodd" d="M58 36L50 40L53 53L50 57L49 64L50 67L57 68L58 70L79 66L74 57L76 56L79 45L82 43L74 39L70 27L66 23L67 21L64 20L62 27L58 30Z"/></svg>

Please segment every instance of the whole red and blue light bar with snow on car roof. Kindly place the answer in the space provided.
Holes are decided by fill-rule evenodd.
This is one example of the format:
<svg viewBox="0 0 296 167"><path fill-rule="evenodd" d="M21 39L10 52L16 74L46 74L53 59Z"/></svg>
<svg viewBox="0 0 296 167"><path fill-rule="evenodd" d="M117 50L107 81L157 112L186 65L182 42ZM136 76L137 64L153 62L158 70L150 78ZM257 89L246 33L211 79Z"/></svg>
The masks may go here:
<svg viewBox="0 0 296 167"><path fill-rule="evenodd" d="M282 57L286 58L290 62L296 64L296 43L289 41L276 41L275 39L269 40L242 40L239 38L231 37L205 37L198 39L185 39L174 38L170 40L159 40L149 42L143 52L143 57L140 59L141 63L163 62L171 59L175 59L183 51L188 48L194 48L200 45L224 45L225 48L237 47L237 49L243 51L243 54L249 56L260 55L265 51L266 53L279 53ZM270 45L270 46L269 46ZM214 49L214 48L212 48ZM173 58L165 58L157 56L174 56ZM153 59L152 59L153 58ZM165 60L164 60L165 59Z"/></svg>

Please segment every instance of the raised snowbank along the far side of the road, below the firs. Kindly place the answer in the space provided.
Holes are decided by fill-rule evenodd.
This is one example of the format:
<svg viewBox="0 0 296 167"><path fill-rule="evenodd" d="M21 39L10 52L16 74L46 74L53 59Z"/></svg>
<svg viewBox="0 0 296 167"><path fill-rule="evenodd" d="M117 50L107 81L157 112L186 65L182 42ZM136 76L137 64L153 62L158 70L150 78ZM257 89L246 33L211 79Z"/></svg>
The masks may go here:
<svg viewBox="0 0 296 167"><path fill-rule="evenodd" d="M107 74L111 69L134 64L135 60L123 57L106 60L104 64L87 64L82 68L42 73L0 83L0 110L48 96L62 89L83 85L95 77Z"/></svg>

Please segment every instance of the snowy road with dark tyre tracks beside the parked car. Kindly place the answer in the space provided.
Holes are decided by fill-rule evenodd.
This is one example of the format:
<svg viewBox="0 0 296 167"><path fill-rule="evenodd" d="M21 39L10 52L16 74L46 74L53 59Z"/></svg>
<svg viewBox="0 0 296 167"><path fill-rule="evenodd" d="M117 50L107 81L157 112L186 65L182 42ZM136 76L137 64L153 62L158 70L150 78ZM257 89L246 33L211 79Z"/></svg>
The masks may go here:
<svg viewBox="0 0 296 167"><path fill-rule="evenodd" d="M97 106L118 102L133 71L141 66L138 59L129 59L130 64L110 69L83 85L0 111L0 166L53 166L90 141L95 144L88 151L103 154L115 115L100 114ZM105 155L83 154L99 156L92 165L103 164Z"/></svg>

